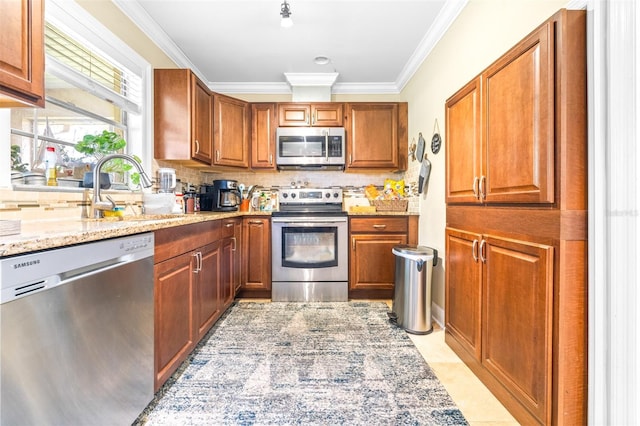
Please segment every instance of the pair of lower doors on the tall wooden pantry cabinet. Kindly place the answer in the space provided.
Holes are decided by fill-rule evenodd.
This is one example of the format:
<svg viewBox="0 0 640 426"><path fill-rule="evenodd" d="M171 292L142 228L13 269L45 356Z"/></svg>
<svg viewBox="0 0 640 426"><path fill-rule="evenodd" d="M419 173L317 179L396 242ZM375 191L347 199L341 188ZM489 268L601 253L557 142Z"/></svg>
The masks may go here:
<svg viewBox="0 0 640 426"><path fill-rule="evenodd" d="M545 244L447 228L446 340L540 423L552 397L553 253ZM487 374L489 373L489 374Z"/></svg>

